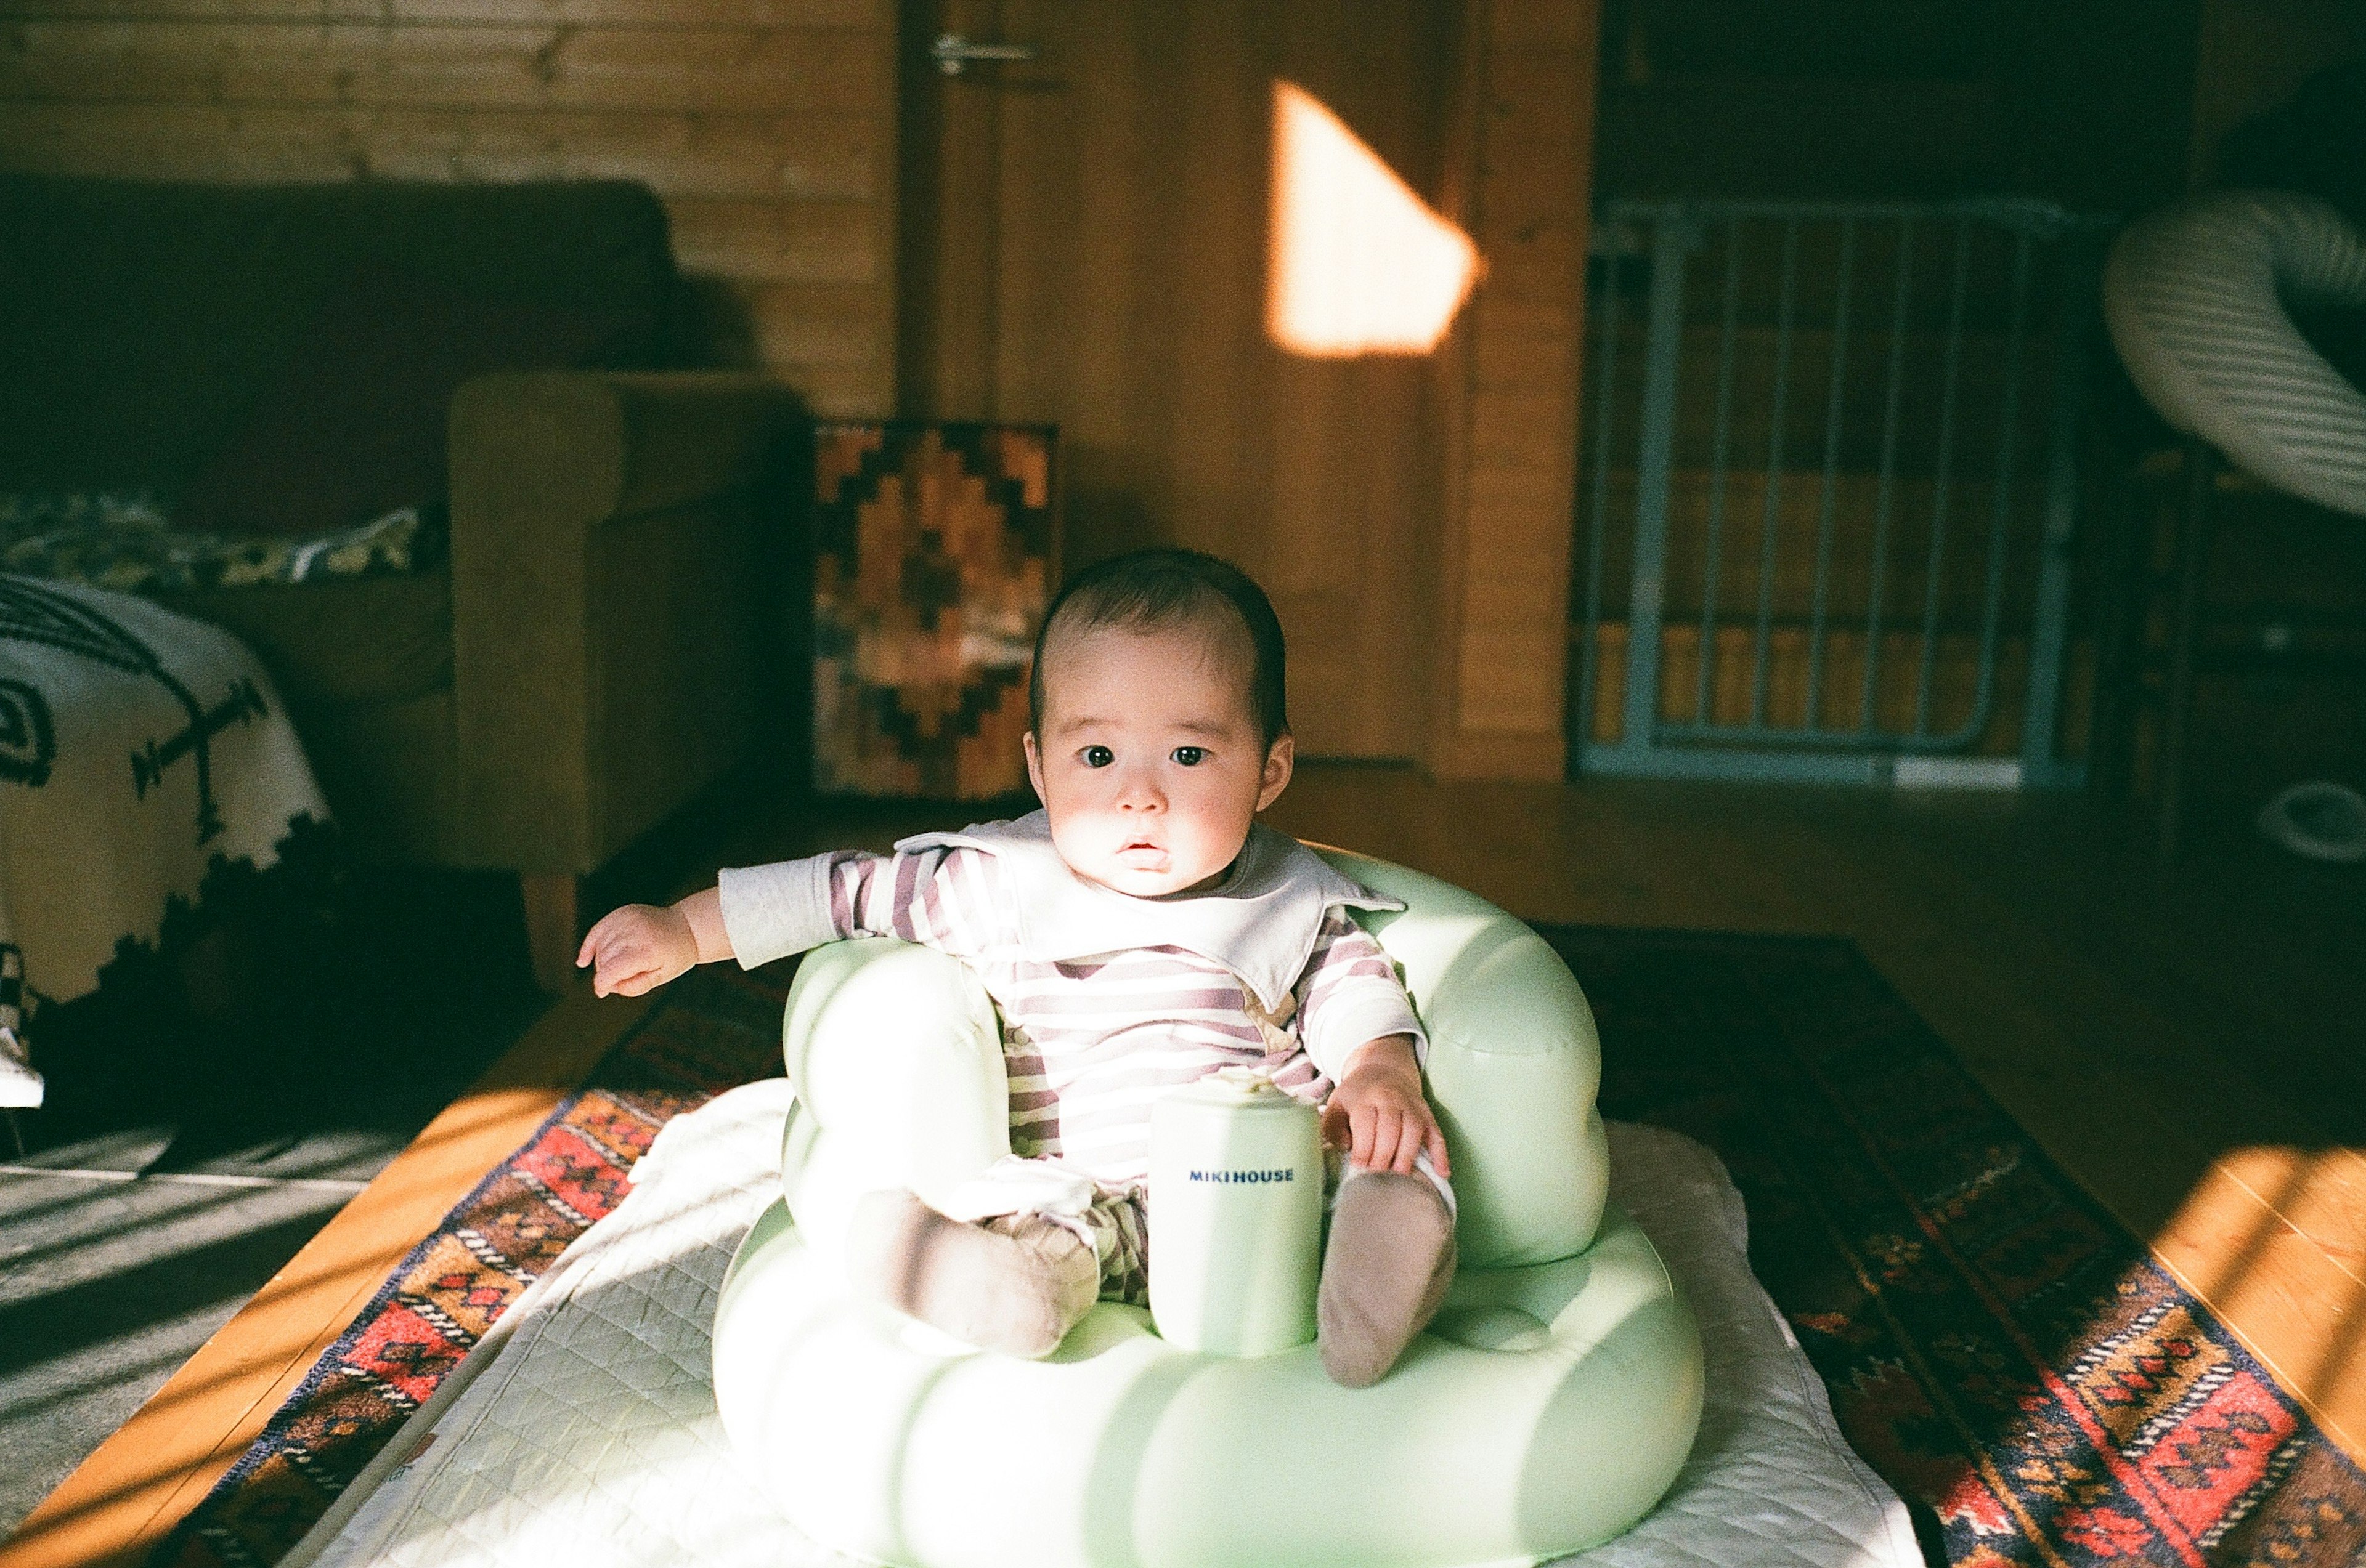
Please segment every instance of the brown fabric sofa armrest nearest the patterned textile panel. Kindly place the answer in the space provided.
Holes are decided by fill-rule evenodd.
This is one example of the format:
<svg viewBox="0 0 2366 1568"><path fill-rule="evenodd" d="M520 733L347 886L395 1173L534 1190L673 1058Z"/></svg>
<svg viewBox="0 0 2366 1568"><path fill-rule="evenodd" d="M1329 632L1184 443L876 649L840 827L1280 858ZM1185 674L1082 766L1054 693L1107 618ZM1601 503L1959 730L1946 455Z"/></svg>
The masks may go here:
<svg viewBox="0 0 2366 1568"><path fill-rule="evenodd" d="M589 873L748 754L759 508L800 421L788 388L743 374L459 388L459 861Z"/></svg>

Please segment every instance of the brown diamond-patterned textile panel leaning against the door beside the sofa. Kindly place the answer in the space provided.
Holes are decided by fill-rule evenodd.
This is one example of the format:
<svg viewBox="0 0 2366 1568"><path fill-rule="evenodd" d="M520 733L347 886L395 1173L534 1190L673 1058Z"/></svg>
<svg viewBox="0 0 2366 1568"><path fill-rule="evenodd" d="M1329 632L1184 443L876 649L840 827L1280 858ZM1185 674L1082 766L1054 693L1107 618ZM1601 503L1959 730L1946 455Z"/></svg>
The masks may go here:
<svg viewBox="0 0 2366 1568"><path fill-rule="evenodd" d="M1027 788L1027 672L1058 579L1053 430L814 433L814 788Z"/></svg>

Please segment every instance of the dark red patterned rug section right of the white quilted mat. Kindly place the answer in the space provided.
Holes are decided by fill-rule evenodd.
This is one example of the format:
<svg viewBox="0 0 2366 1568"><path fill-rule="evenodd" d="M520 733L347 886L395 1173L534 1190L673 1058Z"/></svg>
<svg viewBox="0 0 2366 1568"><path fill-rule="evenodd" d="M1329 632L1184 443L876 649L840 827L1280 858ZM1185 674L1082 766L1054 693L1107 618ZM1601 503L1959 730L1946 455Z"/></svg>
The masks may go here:
<svg viewBox="0 0 2366 1568"><path fill-rule="evenodd" d="M1831 939L1547 929L1602 1109L1692 1133L1841 1428L1961 1568L2349 1563L2366 1476Z"/></svg>

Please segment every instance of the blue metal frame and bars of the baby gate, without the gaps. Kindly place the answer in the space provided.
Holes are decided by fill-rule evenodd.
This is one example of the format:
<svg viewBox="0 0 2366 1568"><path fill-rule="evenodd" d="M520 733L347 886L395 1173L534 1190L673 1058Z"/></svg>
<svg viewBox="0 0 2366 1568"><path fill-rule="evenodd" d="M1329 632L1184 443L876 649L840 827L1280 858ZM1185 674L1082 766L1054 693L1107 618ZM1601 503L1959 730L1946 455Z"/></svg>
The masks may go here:
<svg viewBox="0 0 2366 1568"><path fill-rule="evenodd" d="M1770 388L1770 449L1765 454L1765 523L1760 537L1758 603L1751 617L1751 714L1748 721L1715 721L1711 712L1711 676L1715 662L1718 622L1718 563L1722 551L1722 497L1732 466L1732 412L1734 412L1734 322L1739 291L1741 225L1779 225L1782 232L1782 293L1774 324L1774 367ZM1774 553L1777 553L1777 499L1784 480L1786 412L1791 400L1791 343L1793 315L1801 298L1801 229L1803 225L1834 225L1838 229L1838 265L1831 293L1829 352L1831 374L1824 388L1827 428L1822 464L1822 501L1817 527L1817 568L1812 584L1812 615L1808 624L1808 705L1805 724L1774 724L1767 717L1767 669L1770 634L1774 624ZM1874 542L1869 563L1869 603L1855 608L1850 631L1864 629L1864 674L1857 724L1827 726L1817 721L1824 688L1829 634L1836 615L1845 608L1831 603L1831 534L1838 473L1841 409L1848 374L1848 348L1855 315L1855 258L1864 234L1890 225L1895 239L1895 296L1888 307L1888 385L1883 390L1881 461L1874 490ZM1715 426L1711 459L1711 504L1704 608L1701 608L1701 669L1699 698L1689 719L1663 714L1661 702L1661 634L1668 624L1668 546L1670 546L1670 478L1677 445L1677 393L1685 364L1682 341L1687 322L1685 272L1692 258L1708 246L1713 232L1727 234L1727 267L1722 281L1720 352L1715 367ZM2061 241L2096 234L2108 220L2066 213L2044 201L1954 201L1954 203L1777 203L1777 201L1673 201L1607 203L1595 225L1597 255L1611 258L1616 270L1621 258L1642 255L1649 260L1649 293L1644 300L1644 376L1640 409L1633 409L1635 440L1635 518L1633 518L1633 577L1628 584L1628 665L1621 695L1621 733L1614 743L1595 743L1595 681L1597 681L1597 631L1602 627L1602 589L1607 539L1614 527L1609 516L1609 475L1618 456L1618 426L1623 409L1616 407L1616 357L1623 300L1611 286L1595 303L1595 352L1588 374L1590 430L1583 435L1590 468L1585 508L1585 582L1583 624L1576 695L1573 759L1578 771L1651 778L1753 778L1793 783L1973 783L1973 785L2030 785L2063 788L2084 778L2084 764L2066 759L2056 745L2061 721L2068 624L2073 537L2077 525L2077 428L2084 395L2082 345L2087 341L2087 312L2094 307L2094 289L2084 279L2070 279L2058 289L2058 315L2054 319L2054 367L2049 388L2049 414L2044 421L2044 492L2042 537L2037 561L2037 584L2032 598L2028 693L2023 702L2023 731L2016 757L1971 757L1995 717L1997 665L2004 613L2006 532L2013 523L2013 480L2021 466L2018 428L2025 378L2025 350L2030 343L2028 298L2035 265L2084 265L2075 246ZM1905 345L1909 338L1909 279L1916 237L1952 234L1954 265L1947 296L1947 336L1942 341L1942 393L1938 473L1933 475L1933 516L1928 520L1928 561L1924 561L1924 605L1919 617L1919 669L1914 724L1883 728L1874 712L1874 683L1881 660L1883 634L1914 622L1888 617L1883 603L1886 553L1893 542L1895 506L1895 459L1898 459L1898 412L1905 378ZM1969 255L1973 237L1987 232L1995 241L2011 246L2011 284L2004 333L2004 407L1997 414L1995 452L1985 454L1992 473L1995 499L1987 518L1987 582L1983 617L1978 624L1978 691L1969 719L1945 731L1933 728L1931 681L1940 639L1940 572L1942 551L1950 539L1950 490L1957 485L1954 452L1959 416L1959 383L1964 362L1964 310L1969 291ZM1876 324L1874 333L1881 331ZM1973 534L1976 537L1976 534Z"/></svg>

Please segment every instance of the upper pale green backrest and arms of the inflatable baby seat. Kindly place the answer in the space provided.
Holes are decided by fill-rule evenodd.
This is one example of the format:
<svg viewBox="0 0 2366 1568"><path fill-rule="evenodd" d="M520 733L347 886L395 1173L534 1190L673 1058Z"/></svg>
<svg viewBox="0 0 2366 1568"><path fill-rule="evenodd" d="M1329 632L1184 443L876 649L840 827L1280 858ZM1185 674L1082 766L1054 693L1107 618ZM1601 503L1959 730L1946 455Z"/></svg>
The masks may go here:
<svg viewBox="0 0 2366 1568"><path fill-rule="evenodd" d="M1460 887L1318 854L1405 903L1365 925L1403 970L1429 1031L1462 1268L1585 1251L1609 1190L1609 1145L1595 1109L1602 1050L1576 977L1536 932ZM953 958L885 939L807 953L788 993L783 1055L804 1112L786 1149L800 1225L826 1232L828 1223L809 1225L809 1206L842 1206L868 1187L946 1192L1010 1152L1001 1026ZM830 1161L816 1156L823 1133ZM835 1173L809 1180L823 1164Z"/></svg>

